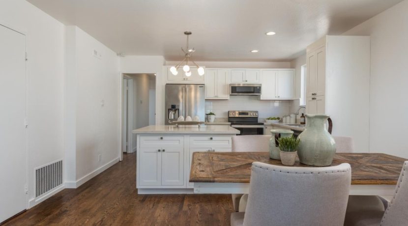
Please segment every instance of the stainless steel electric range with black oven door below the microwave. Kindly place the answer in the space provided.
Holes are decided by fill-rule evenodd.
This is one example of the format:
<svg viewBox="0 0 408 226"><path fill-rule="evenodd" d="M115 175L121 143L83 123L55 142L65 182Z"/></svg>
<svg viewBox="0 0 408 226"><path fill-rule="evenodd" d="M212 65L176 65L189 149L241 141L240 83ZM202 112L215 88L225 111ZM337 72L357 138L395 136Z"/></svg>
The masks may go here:
<svg viewBox="0 0 408 226"><path fill-rule="evenodd" d="M258 122L258 111L228 111L228 121L241 132L239 135L263 135L263 123Z"/></svg>

